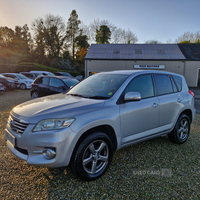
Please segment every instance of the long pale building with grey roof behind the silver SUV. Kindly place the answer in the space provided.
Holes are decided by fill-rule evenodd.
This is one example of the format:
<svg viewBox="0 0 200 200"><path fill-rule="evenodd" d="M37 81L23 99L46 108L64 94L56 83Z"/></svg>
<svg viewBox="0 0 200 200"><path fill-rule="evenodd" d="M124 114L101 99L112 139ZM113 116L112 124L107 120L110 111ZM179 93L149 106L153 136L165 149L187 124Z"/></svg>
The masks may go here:
<svg viewBox="0 0 200 200"><path fill-rule="evenodd" d="M85 57L86 76L130 69L175 72L200 86L200 44L92 44Z"/></svg>

